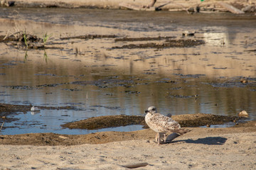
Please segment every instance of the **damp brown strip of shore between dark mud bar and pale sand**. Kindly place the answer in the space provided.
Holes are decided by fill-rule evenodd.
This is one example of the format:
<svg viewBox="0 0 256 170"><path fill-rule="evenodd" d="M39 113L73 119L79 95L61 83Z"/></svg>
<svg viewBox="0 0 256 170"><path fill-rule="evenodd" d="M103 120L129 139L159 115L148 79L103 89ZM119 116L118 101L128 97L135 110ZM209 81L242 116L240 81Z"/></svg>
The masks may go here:
<svg viewBox="0 0 256 170"><path fill-rule="evenodd" d="M233 128L189 128L186 137L202 134L223 135L227 133L255 132L256 121L241 123ZM150 129L132 132L96 132L87 135L60 135L55 133L36 133L22 135L0 135L0 145L82 145L103 144L123 140L154 140L156 132Z"/></svg>

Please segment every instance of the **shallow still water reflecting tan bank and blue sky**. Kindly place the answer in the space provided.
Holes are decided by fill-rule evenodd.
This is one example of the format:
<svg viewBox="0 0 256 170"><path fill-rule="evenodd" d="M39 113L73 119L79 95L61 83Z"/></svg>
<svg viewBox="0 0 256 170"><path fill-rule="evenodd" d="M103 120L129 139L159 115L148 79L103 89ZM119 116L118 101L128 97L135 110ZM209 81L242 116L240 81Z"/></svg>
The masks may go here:
<svg viewBox="0 0 256 170"><path fill-rule="evenodd" d="M149 106L165 115L237 115L245 110L250 120L256 119L255 16L60 8L1 8L0 13L1 35L17 29L39 37L48 33L47 44L56 47L26 51L1 42L0 102L76 107L10 115L19 120L6 123L1 134L97 132L102 130L68 130L60 125L99 115L143 115ZM183 30L196 34L186 38ZM60 40L87 34L174 36L206 44L112 49L147 42ZM248 83L240 83L241 77ZM140 129L132 125L103 130Z"/></svg>

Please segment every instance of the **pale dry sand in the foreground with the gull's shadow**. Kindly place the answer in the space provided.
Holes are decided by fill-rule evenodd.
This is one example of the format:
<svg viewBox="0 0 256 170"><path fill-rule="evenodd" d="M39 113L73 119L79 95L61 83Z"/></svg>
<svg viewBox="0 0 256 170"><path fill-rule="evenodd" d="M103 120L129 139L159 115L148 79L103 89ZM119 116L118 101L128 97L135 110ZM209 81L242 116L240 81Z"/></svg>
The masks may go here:
<svg viewBox="0 0 256 170"><path fill-rule="evenodd" d="M137 169L255 169L255 123L235 128L190 128L191 132L164 145L154 142L151 130L133 132L135 136L144 134L138 140L100 145L16 145L18 140L14 140L15 145L0 145L0 165L1 169L125 169L122 165L147 162L149 165ZM107 134L111 139L111 132ZM97 137L97 133L89 137Z"/></svg>

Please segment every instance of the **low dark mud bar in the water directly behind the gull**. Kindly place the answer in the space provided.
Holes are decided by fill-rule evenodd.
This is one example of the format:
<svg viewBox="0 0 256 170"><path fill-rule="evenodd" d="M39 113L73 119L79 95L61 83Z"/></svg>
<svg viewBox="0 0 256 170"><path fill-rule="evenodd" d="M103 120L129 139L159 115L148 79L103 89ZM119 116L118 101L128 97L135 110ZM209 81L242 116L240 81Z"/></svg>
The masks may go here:
<svg viewBox="0 0 256 170"><path fill-rule="evenodd" d="M171 116L176 120L181 127L198 127L204 125L222 125L224 123L233 122L234 125L242 118L235 116L212 115L197 113L192 115L173 115ZM95 130L102 128L113 128L126 125L143 125L143 128L149 128L146 125L144 116L139 115L106 115L95 118L88 118L73 123L66 123L62 125L63 128L70 129L87 129Z"/></svg>

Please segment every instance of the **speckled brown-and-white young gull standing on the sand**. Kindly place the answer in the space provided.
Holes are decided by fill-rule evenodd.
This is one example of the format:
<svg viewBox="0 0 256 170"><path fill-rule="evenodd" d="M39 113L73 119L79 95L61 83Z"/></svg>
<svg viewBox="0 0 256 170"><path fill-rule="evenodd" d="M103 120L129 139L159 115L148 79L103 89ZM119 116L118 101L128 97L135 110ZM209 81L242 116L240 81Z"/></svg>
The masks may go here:
<svg viewBox="0 0 256 170"><path fill-rule="evenodd" d="M166 132L176 132L178 135L188 132L188 130L181 129L175 120L157 113L156 107L150 106L146 111L145 121L151 130L157 132L156 141L160 145L160 133L164 133L164 142L166 142Z"/></svg>

